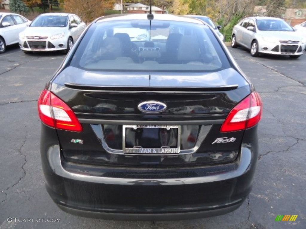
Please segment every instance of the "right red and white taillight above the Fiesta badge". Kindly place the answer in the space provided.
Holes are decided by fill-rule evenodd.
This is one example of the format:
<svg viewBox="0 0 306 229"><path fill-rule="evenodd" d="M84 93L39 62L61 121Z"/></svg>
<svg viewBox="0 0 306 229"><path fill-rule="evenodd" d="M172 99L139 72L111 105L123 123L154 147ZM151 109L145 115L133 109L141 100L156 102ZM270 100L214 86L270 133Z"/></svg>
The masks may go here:
<svg viewBox="0 0 306 229"><path fill-rule="evenodd" d="M221 126L221 132L243 130L255 126L262 116L262 101L257 92L237 104Z"/></svg>

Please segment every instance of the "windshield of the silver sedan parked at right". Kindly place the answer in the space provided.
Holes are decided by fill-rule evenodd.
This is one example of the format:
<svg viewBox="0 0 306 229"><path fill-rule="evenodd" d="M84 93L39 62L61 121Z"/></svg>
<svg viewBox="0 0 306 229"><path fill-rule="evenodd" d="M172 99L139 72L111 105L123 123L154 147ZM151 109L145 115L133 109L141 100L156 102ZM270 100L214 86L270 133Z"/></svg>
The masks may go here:
<svg viewBox="0 0 306 229"><path fill-rule="evenodd" d="M292 27L283 20L260 19L256 20L259 30L262 31L294 31Z"/></svg>

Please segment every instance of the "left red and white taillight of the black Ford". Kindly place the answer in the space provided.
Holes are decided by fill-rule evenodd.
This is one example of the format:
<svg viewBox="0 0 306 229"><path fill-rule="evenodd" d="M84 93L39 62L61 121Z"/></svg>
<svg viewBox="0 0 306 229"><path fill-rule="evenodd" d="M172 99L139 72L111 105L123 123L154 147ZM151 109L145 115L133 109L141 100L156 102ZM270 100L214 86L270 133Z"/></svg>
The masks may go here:
<svg viewBox="0 0 306 229"><path fill-rule="evenodd" d="M40 120L48 126L77 132L83 130L70 107L46 89L39 96L38 113Z"/></svg>

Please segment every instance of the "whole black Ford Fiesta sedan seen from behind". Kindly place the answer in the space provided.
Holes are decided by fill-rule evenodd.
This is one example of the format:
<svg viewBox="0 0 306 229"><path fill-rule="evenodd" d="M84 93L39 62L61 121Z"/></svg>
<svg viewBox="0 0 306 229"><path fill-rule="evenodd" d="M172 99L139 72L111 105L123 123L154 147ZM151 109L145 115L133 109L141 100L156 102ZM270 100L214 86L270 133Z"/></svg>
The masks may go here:
<svg viewBox="0 0 306 229"><path fill-rule="evenodd" d="M98 18L38 111L47 191L66 212L191 219L231 212L251 191L262 102L200 20Z"/></svg>

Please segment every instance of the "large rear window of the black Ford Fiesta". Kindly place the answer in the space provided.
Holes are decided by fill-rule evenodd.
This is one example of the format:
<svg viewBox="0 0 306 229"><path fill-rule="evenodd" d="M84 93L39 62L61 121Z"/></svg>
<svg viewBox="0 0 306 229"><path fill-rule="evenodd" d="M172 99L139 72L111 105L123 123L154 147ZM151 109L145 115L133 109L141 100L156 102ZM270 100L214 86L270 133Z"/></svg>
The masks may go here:
<svg viewBox="0 0 306 229"><path fill-rule="evenodd" d="M230 63L206 25L152 20L97 22L71 66L91 71L200 71Z"/></svg>

